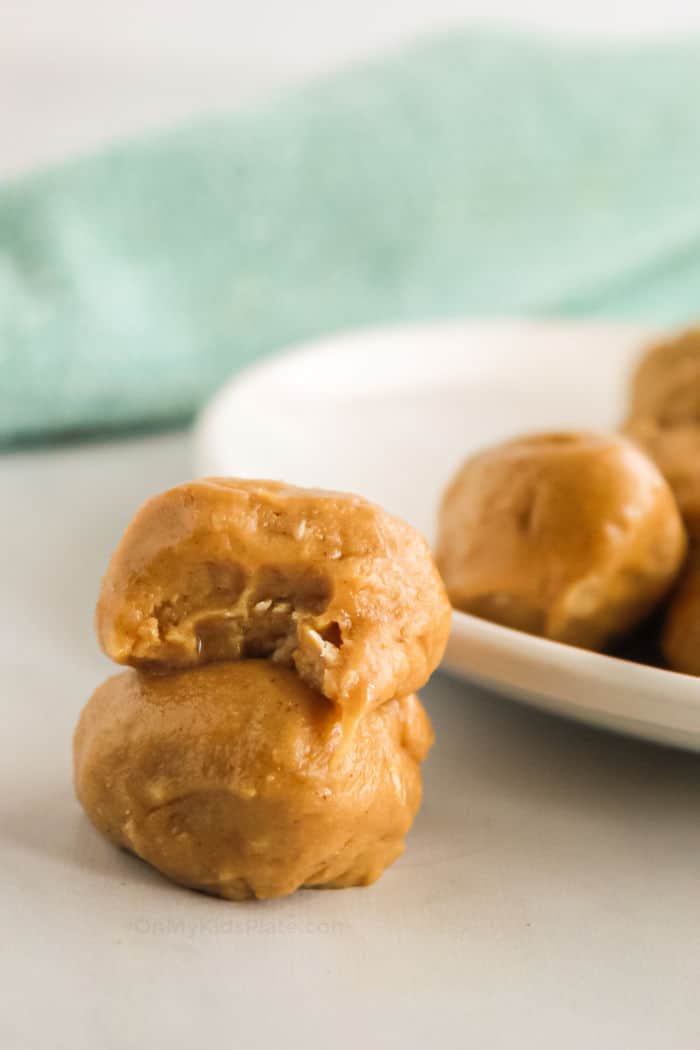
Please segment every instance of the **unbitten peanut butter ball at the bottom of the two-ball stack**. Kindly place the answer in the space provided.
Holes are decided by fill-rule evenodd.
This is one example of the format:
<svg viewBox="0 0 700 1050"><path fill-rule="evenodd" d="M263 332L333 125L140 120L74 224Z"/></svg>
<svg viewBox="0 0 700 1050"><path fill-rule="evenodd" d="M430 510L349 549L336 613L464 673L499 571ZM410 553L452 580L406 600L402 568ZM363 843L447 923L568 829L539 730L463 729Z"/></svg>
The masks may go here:
<svg viewBox="0 0 700 1050"><path fill-rule="evenodd" d="M333 705L269 660L129 670L84 709L78 797L173 881L231 900L366 885L403 850L432 731L388 700L339 747Z"/></svg>

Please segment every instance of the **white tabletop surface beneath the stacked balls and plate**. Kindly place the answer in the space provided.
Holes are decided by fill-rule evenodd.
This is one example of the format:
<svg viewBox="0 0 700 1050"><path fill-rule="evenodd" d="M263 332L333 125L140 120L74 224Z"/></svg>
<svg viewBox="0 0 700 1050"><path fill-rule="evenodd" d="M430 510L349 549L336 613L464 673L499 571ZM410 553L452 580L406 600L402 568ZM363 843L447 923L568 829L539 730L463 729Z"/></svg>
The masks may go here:
<svg viewBox="0 0 700 1050"><path fill-rule="evenodd" d="M437 676L405 857L368 889L229 904L92 831L70 737L92 608L187 436L0 457L0 1047L695 1050L700 761Z"/></svg>

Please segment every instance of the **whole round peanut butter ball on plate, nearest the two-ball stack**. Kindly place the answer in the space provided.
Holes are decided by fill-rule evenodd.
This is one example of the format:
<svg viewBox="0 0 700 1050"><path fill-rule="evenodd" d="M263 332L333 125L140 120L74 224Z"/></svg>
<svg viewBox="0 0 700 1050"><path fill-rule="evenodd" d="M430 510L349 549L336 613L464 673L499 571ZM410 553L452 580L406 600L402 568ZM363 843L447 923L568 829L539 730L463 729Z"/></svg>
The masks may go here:
<svg viewBox="0 0 700 1050"><path fill-rule="evenodd" d="M669 485L631 442L539 434L464 463L443 500L438 565L457 608L603 649L667 592L685 545Z"/></svg>

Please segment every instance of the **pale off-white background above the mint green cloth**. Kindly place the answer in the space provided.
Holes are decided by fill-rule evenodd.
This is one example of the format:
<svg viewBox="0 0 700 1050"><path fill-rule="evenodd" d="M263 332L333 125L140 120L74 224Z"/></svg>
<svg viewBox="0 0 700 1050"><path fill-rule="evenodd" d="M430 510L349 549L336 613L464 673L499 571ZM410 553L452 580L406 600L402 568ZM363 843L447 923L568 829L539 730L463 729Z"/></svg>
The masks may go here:
<svg viewBox="0 0 700 1050"><path fill-rule="evenodd" d="M2 0L0 175L228 108L457 21L649 37L696 0Z"/></svg>

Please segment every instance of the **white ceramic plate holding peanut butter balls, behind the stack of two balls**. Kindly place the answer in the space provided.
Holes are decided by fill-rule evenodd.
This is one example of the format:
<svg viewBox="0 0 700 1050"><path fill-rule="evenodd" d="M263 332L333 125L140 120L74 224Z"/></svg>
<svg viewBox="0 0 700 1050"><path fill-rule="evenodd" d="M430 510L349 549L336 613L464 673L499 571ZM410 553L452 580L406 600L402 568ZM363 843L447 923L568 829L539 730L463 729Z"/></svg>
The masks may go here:
<svg viewBox="0 0 700 1050"><path fill-rule="evenodd" d="M654 333L580 322L460 322L359 332L292 350L204 413L204 474L357 491L433 537L465 454L528 429L613 427ZM700 679L455 613L446 668L595 726L700 750Z"/></svg>

